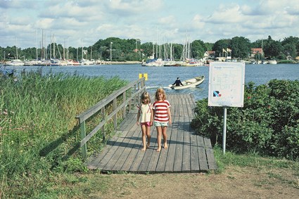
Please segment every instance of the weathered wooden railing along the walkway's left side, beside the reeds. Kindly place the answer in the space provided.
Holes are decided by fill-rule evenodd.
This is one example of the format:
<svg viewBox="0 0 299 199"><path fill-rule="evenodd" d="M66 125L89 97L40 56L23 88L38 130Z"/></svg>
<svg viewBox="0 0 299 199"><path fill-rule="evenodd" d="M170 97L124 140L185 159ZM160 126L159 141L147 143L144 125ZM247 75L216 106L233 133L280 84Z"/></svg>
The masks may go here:
<svg viewBox="0 0 299 199"><path fill-rule="evenodd" d="M114 129L117 129L117 113L122 111L122 118L125 118L127 113L132 109L133 105L139 101L141 93L144 92L146 89L145 86L145 78L142 77L135 82L129 83L127 86L119 89L110 96L107 96L102 101L96 103L96 105L92 106L88 110L84 111L76 116L79 120L80 130L81 130L81 141L79 142L79 146L82 150L83 158L87 158L87 141L91 139L94 134L96 134L100 129L103 132L103 139L106 139L104 125L113 119ZM129 96L127 96L129 95ZM112 103L112 112L107 115L106 114L106 106ZM86 121L93 117L94 115L101 113L102 120L99 124L92 129L89 133L86 132Z"/></svg>

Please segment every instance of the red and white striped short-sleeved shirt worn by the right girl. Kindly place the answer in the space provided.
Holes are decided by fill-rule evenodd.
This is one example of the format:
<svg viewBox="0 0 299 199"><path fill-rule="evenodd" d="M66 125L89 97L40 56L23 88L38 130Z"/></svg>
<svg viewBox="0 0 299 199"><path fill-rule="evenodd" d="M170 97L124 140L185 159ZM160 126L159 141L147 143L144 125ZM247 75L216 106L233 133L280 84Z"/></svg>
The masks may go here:
<svg viewBox="0 0 299 199"><path fill-rule="evenodd" d="M170 102L165 101L155 101L153 103L153 110L155 110L154 122L168 122L169 117L167 114L168 108L170 108Z"/></svg>

